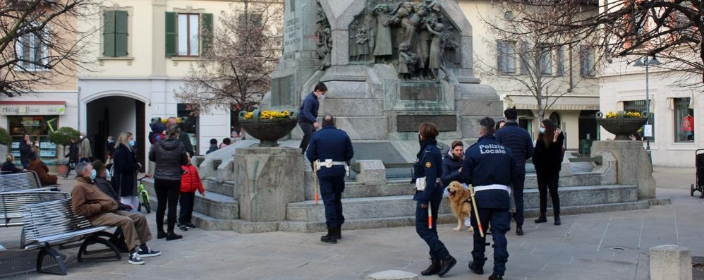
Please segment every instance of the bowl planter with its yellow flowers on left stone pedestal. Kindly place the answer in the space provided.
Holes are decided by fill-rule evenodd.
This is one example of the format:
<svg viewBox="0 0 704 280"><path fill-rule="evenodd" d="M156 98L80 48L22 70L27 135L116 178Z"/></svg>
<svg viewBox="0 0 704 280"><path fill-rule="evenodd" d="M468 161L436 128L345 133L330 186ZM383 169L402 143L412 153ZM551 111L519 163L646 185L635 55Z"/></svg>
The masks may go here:
<svg viewBox="0 0 704 280"><path fill-rule="evenodd" d="M240 111L240 126L259 139L259 147L276 147L277 140L291 133L296 127L296 113L289 110L282 111Z"/></svg>

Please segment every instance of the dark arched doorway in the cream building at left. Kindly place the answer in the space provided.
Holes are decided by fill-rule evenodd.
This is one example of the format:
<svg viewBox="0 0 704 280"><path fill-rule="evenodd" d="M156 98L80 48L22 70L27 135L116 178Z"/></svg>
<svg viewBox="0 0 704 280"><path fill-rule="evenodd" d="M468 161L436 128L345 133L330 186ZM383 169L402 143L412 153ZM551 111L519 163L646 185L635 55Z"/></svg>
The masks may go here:
<svg viewBox="0 0 704 280"><path fill-rule="evenodd" d="M107 138L131 132L137 142L137 159L145 166L145 103L131 97L109 96L86 104L85 134L89 137L93 157L103 162L107 156Z"/></svg>

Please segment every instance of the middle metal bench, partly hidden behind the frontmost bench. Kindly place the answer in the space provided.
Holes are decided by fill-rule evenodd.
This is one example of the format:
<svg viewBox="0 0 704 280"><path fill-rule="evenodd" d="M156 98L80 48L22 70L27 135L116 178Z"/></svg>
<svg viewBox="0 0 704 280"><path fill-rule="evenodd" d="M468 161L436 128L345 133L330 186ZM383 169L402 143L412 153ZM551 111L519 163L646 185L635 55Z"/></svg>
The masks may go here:
<svg viewBox="0 0 704 280"><path fill-rule="evenodd" d="M71 198L68 193L25 191L0 193L0 226L22 226L22 222L11 222L11 219L22 218L22 207L36 203L64 200Z"/></svg>

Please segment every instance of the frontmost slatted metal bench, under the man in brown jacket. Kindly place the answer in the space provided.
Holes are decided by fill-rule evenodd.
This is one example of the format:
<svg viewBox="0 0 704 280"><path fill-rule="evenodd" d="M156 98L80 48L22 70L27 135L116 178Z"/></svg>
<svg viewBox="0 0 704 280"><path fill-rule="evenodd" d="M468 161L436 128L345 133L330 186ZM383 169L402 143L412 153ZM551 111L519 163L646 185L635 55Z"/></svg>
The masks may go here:
<svg viewBox="0 0 704 280"><path fill-rule="evenodd" d="M71 199L56 200L22 207L22 219L25 222L25 250L37 250L37 272L66 275L66 262L52 246L73 243L83 240L78 250L78 262L84 260L120 260L122 256L115 245L110 241L115 236L108 233L107 229L114 226L91 226L90 221L83 216L73 214ZM102 244L107 249L88 251L87 247L93 244ZM105 256L105 252L113 254ZM87 258L87 255L102 255ZM59 264L59 272L42 269L44 257L50 255Z"/></svg>

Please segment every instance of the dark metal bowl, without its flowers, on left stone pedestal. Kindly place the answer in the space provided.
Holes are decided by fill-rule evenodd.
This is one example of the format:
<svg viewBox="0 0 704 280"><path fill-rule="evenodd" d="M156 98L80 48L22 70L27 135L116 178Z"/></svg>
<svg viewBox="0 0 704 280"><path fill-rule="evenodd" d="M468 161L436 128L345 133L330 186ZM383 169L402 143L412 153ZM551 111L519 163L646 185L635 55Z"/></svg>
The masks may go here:
<svg viewBox="0 0 704 280"><path fill-rule="evenodd" d="M253 112L253 118L245 119L245 111L240 111L239 121L240 126L253 138L259 139L259 147L277 147L279 142L277 140L284 138L284 136L289 135L291 130L298 124L297 115L291 112L289 118L271 118L264 119L260 118L261 112L255 110Z"/></svg>

